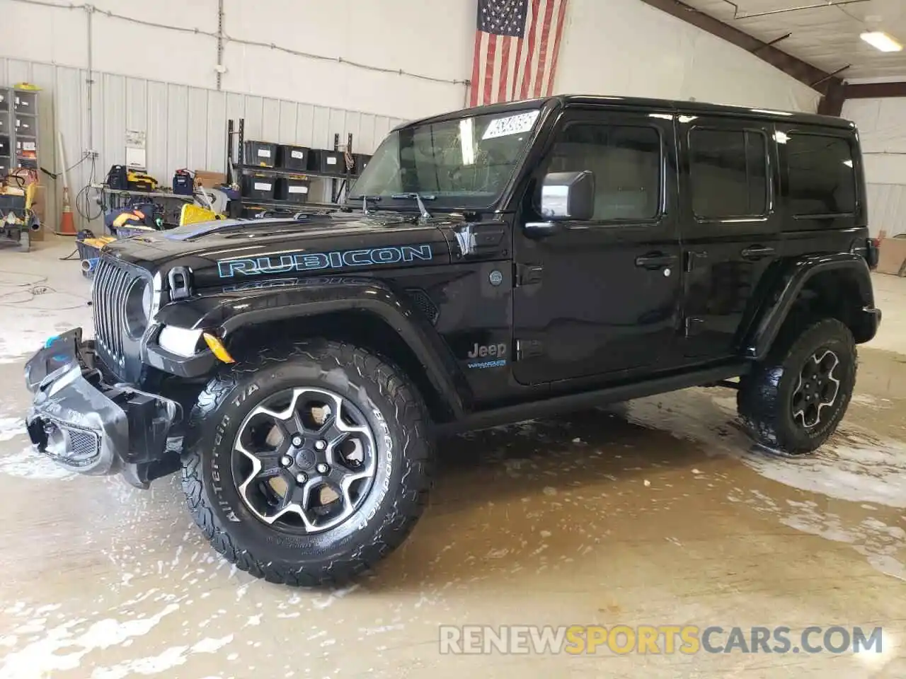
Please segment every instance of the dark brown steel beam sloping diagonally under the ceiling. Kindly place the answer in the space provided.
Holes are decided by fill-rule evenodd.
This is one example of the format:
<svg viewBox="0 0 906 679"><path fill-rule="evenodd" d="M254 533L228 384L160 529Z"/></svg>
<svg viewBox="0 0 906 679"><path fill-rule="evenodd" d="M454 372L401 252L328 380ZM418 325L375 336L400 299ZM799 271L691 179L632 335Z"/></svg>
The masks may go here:
<svg viewBox="0 0 906 679"><path fill-rule="evenodd" d="M724 24L719 19L715 19L704 12L699 12L699 10L681 3L679 0L641 0L641 2L682 19L687 24L698 26L703 31L717 35L718 38L755 54L759 59L768 62L779 71L785 72L797 81L805 83L822 94L834 86L842 84L842 81L839 78L835 78L831 73L826 73L810 63L795 58L792 54L787 54L783 50L777 49L771 43L766 43L752 37L748 33L743 33L738 28ZM814 83L819 84L815 85Z"/></svg>

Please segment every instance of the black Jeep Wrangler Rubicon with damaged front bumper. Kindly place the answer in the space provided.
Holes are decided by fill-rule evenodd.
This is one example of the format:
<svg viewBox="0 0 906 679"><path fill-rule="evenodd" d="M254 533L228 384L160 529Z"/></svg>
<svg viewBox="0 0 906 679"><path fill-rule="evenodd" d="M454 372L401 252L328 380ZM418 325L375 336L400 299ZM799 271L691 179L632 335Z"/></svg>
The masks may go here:
<svg viewBox="0 0 906 679"><path fill-rule="evenodd" d="M438 435L719 384L757 443L814 451L881 319L836 118L462 110L394 129L352 206L104 248L95 339L70 330L25 368L37 449L139 487L181 468L226 559L334 583L411 530Z"/></svg>

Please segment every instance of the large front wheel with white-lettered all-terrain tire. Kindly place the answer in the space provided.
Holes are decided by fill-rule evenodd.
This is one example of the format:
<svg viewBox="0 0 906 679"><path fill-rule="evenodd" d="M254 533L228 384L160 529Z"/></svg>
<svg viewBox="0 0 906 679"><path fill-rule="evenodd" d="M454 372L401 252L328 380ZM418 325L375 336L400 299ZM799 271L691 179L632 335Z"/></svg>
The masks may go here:
<svg viewBox="0 0 906 679"><path fill-rule="evenodd" d="M237 363L198 397L186 438L189 511L226 559L270 582L354 578L400 545L427 502L424 405L397 368L349 344Z"/></svg>

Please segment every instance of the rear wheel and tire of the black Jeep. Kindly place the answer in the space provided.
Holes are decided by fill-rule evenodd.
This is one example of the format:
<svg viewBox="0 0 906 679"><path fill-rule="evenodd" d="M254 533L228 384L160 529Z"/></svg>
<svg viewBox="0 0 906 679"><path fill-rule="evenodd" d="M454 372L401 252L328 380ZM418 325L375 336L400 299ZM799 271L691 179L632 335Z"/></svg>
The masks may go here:
<svg viewBox="0 0 906 679"><path fill-rule="evenodd" d="M790 323L767 359L740 380L743 425L767 448L811 453L843 419L855 373L853 334L842 322Z"/></svg>

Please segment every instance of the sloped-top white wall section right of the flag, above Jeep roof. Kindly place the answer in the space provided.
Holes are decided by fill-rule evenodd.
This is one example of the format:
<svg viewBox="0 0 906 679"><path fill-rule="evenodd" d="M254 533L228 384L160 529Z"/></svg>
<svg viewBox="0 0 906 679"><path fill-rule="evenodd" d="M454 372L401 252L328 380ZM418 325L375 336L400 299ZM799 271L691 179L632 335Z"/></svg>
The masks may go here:
<svg viewBox="0 0 906 679"><path fill-rule="evenodd" d="M639 0L570 0L567 22L557 92L817 108L803 83Z"/></svg>

